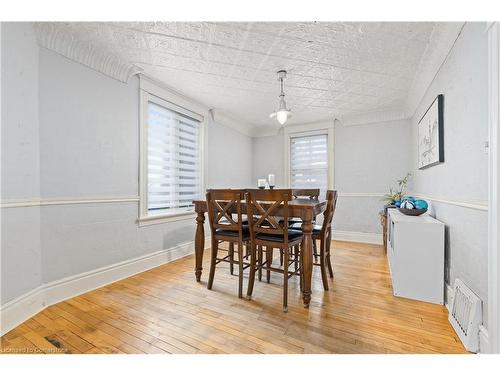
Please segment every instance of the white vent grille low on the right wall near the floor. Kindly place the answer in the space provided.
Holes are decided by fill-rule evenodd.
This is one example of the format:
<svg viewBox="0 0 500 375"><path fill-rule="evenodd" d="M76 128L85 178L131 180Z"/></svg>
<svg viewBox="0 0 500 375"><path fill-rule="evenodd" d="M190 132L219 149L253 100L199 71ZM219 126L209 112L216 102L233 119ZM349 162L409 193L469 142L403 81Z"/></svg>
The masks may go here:
<svg viewBox="0 0 500 375"><path fill-rule="evenodd" d="M455 279L448 320L469 352L479 350L482 302L460 279Z"/></svg>

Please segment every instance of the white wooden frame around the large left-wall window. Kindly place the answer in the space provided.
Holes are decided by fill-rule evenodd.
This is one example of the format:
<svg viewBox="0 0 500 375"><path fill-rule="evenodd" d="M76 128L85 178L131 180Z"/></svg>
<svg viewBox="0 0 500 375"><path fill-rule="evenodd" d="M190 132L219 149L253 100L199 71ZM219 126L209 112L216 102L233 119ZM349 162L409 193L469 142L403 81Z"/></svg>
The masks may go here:
<svg viewBox="0 0 500 375"><path fill-rule="evenodd" d="M205 191L207 170L207 131L208 108L162 87L145 77L140 77L139 87L139 226L168 223L179 220L192 220L194 208L186 212L172 212L151 215L148 211L148 103L154 103L168 110L191 117L200 122L200 198Z"/></svg>

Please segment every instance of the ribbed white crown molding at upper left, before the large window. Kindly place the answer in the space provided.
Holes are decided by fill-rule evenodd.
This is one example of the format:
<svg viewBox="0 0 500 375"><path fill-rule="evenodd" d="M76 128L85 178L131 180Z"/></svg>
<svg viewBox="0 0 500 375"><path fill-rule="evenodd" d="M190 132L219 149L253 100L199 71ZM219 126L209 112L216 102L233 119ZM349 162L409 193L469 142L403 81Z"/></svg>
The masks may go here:
<svg viewBox="0 0 500 375"><path fill-rule="evenodd" d="M33 26L40 47L57 52L118 81L126 83L131 76L143 70L95 47L90 42L78 40L63 25L37 22Z"/></svg>

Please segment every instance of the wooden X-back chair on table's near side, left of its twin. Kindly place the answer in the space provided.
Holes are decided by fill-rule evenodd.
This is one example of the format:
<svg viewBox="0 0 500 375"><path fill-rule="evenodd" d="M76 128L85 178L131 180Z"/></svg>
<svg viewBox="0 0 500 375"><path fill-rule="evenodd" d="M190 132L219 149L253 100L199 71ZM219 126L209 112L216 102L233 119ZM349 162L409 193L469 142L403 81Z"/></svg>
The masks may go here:
<svg viewBox="0 0 500 375"><path fill-rule="evenodd" d="M241 201L245 199L242 190L210 189L207 190L207 208L210 231L212 235L212 251L210 258L210 275L208 277L208 289L212 289L215 268L220 262L227 262L230 272L233 274L233 266L238 265L238 297L243 296L243 270L249 267L245 264L243 245L249 244L250 232L248 225L244 225L242 218ZM236 218L232 212L236 212ZM219 257L219 243L229 242L228 254ZM234 245L237 246L238 259L234 259Z"/></svg>

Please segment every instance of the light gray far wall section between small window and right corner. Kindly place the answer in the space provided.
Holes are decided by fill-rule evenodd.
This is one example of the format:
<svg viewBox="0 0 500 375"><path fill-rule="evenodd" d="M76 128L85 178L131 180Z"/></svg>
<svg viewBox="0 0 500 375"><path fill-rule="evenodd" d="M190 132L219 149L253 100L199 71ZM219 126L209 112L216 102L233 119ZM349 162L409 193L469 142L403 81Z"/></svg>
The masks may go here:
<svg viewBox="0 0 500 375"><path fill-rule="evenodd" d="M410 133L409 120L335 125L335 230L382 233L378 212L384 202L377 194L410 172Z"/></svg>

